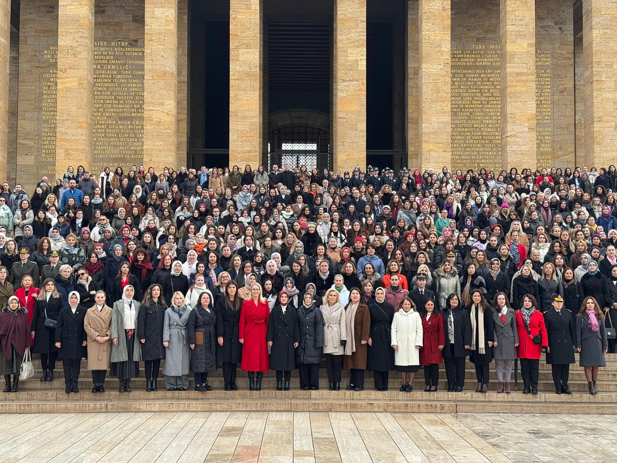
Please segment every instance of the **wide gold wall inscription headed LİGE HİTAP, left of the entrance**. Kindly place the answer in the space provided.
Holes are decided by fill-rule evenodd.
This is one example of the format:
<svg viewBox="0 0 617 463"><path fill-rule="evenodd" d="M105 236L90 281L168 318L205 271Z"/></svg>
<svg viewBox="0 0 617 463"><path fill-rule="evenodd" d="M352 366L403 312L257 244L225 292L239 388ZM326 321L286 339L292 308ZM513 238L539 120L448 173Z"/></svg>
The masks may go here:
<svg viewBox="0 0 617 463"><path fill-rule="evenodd" d="M94 42L94 172L143 162L144 48L138 42Z"/></svg>

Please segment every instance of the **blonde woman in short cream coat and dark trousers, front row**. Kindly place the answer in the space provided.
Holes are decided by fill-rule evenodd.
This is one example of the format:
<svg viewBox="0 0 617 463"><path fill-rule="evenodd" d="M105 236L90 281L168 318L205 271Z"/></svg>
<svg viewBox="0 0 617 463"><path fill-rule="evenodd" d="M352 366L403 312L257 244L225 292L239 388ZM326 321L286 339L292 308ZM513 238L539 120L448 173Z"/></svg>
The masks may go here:
<svg viewBox="0 0 617 463"><path fill-rule="evenodd" d="M352 339L352 328L347 329L345 309L341 306L339 292L330 288L323 296L320 307L323 316L323 353L326 356L330 391L341 390L342 356L345 354L347 339Z"/></svg>

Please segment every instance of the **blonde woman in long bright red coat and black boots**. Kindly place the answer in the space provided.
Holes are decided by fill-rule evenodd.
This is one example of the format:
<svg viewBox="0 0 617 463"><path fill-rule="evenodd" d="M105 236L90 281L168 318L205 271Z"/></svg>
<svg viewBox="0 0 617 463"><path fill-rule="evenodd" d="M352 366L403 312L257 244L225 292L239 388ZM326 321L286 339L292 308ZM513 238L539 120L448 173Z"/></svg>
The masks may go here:
<svg viewBox="0 0 617 463"><path fill-rule="evenodd" d="M258 283L251 285L251 299L240 309L239 341L242 343L242 370L249 372L249 390L262 390L263 372L270 369L266 332L270 319L268 301ZM257 384L255 385L255 372Z"/></svg>

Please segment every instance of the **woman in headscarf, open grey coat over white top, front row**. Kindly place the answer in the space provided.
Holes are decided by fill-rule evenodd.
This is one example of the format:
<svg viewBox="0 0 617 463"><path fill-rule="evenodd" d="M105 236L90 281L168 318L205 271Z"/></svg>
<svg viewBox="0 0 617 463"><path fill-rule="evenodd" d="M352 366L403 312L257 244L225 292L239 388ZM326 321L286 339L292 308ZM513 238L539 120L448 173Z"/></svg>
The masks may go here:
<svg viewBox="0 0 617 463"><path fill-rule="evenodd" d="M135 289L126 285L122 299L112 309L112 354L110 375L118 378L118 392L131 392L131 378L139 377L141 346L136 342L139 302L133 300Z"/></svg>

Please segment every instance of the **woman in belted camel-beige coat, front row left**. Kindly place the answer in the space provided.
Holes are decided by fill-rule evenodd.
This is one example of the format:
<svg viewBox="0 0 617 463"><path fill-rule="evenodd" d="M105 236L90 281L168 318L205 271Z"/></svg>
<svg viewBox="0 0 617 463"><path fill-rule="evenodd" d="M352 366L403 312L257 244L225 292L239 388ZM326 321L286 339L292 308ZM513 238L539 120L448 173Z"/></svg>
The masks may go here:
<svg viewBox="0 0 617 463"><path fill-rule="evenodd" d="M93 392L105 392L105 373L111 357L112 309L105 304L105 293L96 291L94 306L88 309L83 328L88 335L88 369L92 370Z"/></svg>

